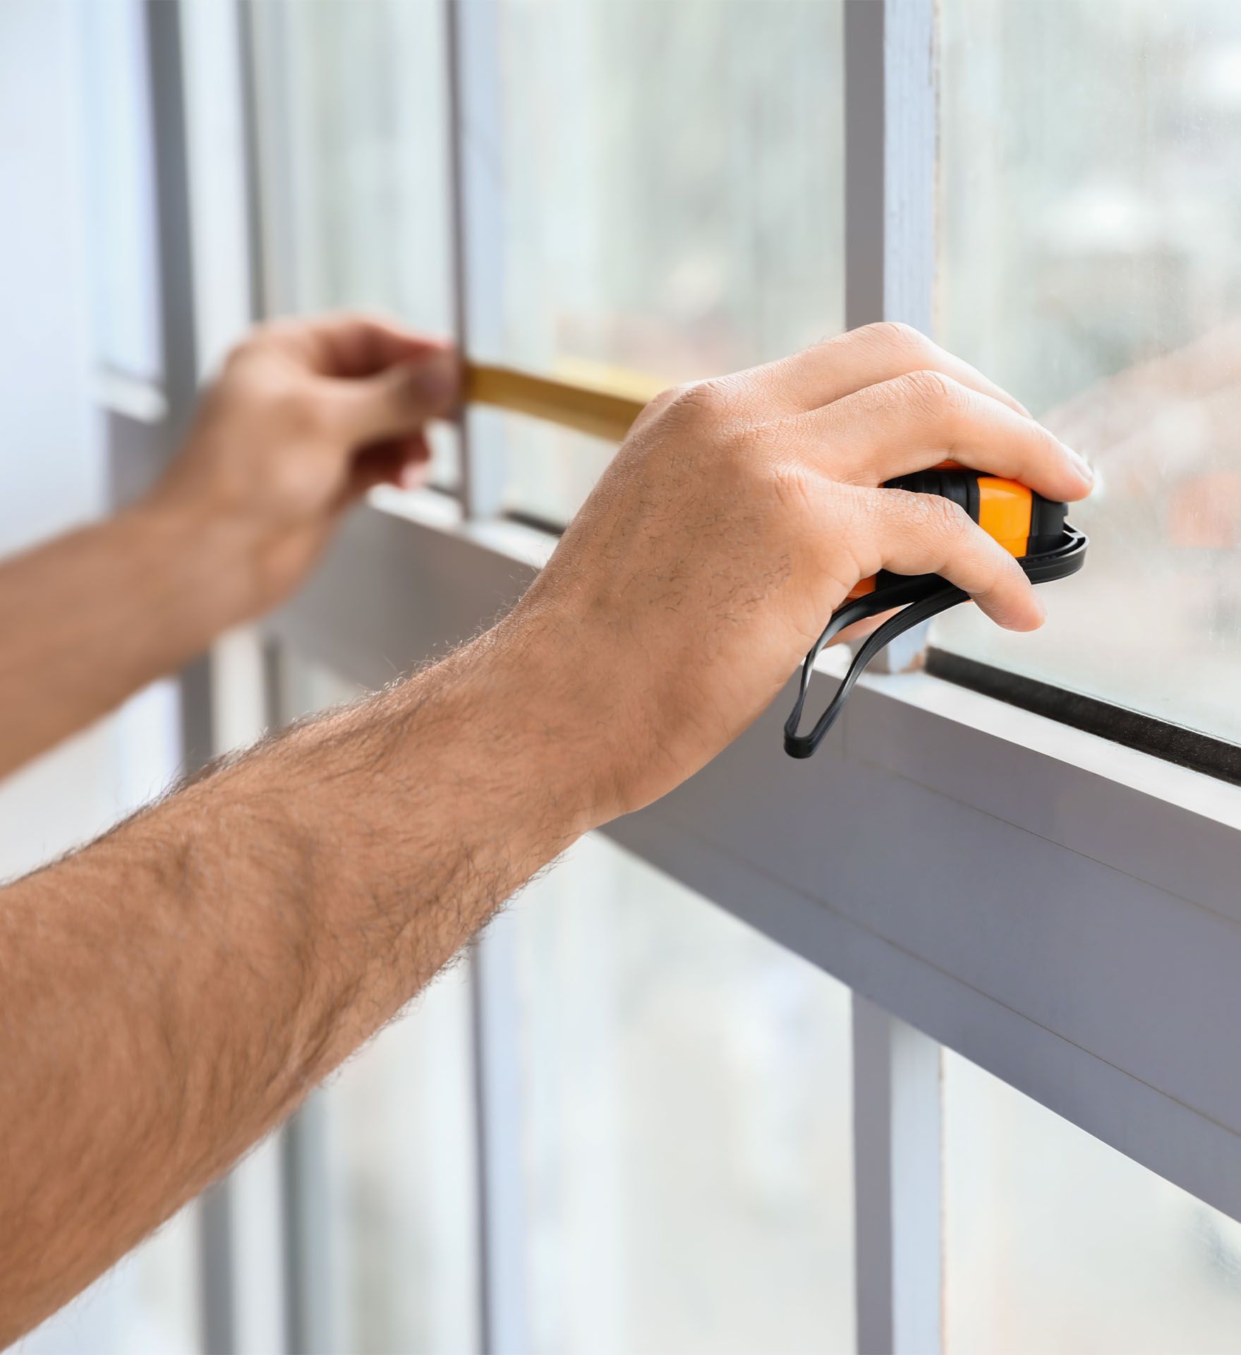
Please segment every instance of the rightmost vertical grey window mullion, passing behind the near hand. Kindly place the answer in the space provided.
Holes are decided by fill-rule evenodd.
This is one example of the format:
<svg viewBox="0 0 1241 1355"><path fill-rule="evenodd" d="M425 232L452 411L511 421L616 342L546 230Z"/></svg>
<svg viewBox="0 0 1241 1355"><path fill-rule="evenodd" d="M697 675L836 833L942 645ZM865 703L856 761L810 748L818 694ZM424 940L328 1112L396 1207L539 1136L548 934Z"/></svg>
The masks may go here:
<svg viewBox="0 0 1241 1355"><path fill-rule="evenodd" d="M935 275L935 0L844 0L845 321L929 331ZM885 656L917 663L927 627ZM938 1351L940 1049L854 1000L858 1348Z"/></svg>

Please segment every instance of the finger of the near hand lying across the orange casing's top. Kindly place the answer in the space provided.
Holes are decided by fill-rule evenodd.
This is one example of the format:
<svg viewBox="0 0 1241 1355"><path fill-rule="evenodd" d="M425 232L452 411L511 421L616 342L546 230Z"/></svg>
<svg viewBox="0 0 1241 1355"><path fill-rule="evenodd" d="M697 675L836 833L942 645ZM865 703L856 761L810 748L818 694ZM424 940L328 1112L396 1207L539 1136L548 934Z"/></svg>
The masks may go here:
<svg viewBox="0 0 1241 1355"><path fill-rule="evenodd" d="M788 421L833 478L881 485L951 459L1017 480L1047 499L1084 499L1089 466L1054 434L1009 405L939 371L868 386Z"/></svg>

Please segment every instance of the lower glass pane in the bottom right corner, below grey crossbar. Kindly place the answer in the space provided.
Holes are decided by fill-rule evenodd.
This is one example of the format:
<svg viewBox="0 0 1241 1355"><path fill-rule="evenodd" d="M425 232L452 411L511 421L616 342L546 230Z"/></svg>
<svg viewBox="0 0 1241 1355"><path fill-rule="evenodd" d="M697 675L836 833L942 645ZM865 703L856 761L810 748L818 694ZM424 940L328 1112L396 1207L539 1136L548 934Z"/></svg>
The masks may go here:
<svg viewBox="0 0 1241 1355"><path fill-rule="evenodd" d="M1236 1351L1241 1224L944 1051L951 1355Z"/></svg>

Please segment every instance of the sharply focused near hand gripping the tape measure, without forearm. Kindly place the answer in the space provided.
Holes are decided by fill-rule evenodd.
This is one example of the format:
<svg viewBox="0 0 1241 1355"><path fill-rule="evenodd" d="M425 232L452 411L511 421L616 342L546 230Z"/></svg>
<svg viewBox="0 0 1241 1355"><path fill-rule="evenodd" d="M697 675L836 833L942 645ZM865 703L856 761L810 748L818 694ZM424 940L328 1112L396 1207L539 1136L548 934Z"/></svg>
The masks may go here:
<svg viewBox="0 0 1241 1355"><path fill-rule="evenodd" d="M1049 499L1091 489L1076 453L904 325L644 411L505 623L539 637L539 703L592 768L595 817L641 808L714 757L879 569L943 575L1011 630L1042 623L1020 566L961 508L881 488L947 458Z"/></svg>

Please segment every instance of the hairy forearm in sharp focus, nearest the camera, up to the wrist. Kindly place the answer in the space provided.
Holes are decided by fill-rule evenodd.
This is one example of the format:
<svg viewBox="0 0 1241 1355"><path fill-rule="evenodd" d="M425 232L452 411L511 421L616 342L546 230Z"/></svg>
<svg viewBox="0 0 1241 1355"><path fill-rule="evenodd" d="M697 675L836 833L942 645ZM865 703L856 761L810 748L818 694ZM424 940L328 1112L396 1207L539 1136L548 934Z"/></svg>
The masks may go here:
<svg viewBox="0 0 1241 1355"><path fill-rule="evenodd" d="M0 1344L219 1175L599 817L538 713L538 664L486 635L0 893Z"/></svg>

